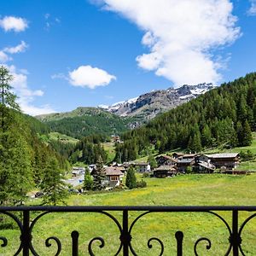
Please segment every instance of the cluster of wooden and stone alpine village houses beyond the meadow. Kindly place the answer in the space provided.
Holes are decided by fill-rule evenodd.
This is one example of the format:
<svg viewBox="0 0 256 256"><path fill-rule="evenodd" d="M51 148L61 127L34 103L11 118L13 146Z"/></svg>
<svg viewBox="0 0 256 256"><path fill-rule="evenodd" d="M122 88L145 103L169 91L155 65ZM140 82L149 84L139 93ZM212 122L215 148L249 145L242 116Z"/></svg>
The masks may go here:
<svg viewBox="0 0 256 256"><path fill-rule="evenodd" d="M157 166L152 168L149 162L125 162L118 164L113 162L111 166L103 166L105 179L103 181L106 189L113 189L122 186L123 178L130 166L134 167L137 173L148 177L174 177L179 174L213 173L221 172L227 174L246 174L236 171L240 163L239 153L222 154L163 154L155 158ZM96 172L96 164L88 166L91 177ZM76 188L84 183L84 167L73 167L72 178L67 179L67 184Z"/></svg>

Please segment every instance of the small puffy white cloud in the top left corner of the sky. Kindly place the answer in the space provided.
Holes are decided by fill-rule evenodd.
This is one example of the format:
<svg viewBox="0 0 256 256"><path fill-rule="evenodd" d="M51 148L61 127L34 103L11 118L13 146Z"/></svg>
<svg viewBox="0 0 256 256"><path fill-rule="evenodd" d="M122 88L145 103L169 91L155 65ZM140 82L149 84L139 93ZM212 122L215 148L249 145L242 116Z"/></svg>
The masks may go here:
<svg viewBox="0 0 256 256"><path fill-rule="evenodd" d="M25 31L28 27L27 21L20 17L5 16L0 20L0 26L3 27L5 32L14 30L15 32Z"/></svg>

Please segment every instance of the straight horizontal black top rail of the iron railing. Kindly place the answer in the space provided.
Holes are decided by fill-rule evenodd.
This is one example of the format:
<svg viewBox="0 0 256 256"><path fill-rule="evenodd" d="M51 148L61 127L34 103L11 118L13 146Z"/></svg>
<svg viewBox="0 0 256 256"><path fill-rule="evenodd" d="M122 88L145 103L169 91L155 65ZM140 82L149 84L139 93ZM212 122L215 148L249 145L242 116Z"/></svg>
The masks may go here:
<svg viewBox="0 0 256 256"><path fill-rule="evenodd" d="M150 211L150 212L209 212L256 211L256 206L32 206L0 207L0 212L49 211L49 212L102 212L102 211Z"/></svg>

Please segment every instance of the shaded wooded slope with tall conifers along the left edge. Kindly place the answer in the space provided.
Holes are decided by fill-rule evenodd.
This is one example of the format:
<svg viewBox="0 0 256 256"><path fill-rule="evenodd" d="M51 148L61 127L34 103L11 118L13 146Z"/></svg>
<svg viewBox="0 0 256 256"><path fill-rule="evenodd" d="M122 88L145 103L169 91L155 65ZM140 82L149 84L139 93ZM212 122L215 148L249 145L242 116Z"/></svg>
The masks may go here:
<svg viewBox="0 0 256 256"><path fill-rule="evenodd" d="M0 67L0 205L22 204L32 189L52 189L53 178L60 179L69 168L65 158L39 139L48 128L20 113L9 85L12 79Z"/></svg>

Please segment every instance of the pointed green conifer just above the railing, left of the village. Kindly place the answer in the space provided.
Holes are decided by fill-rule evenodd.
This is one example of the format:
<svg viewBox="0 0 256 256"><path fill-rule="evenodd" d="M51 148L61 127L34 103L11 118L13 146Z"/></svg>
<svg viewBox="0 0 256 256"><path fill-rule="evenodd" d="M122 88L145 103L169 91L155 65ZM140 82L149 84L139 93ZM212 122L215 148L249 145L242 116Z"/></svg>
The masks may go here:
<svg viewBox="0 0 256 256"><path fill-rule="evenodd" d="M49 160L48 165L44 170L44 178L40 184L43 195L43 204L57 205L65 204L67 198L66 184L63 181L63 173L60 171L58 162L55 157Z"/></svg>

